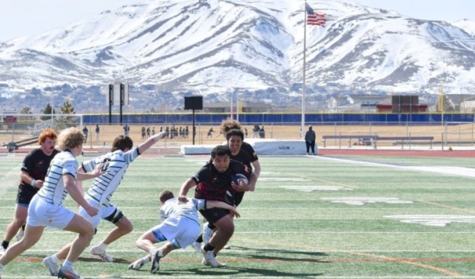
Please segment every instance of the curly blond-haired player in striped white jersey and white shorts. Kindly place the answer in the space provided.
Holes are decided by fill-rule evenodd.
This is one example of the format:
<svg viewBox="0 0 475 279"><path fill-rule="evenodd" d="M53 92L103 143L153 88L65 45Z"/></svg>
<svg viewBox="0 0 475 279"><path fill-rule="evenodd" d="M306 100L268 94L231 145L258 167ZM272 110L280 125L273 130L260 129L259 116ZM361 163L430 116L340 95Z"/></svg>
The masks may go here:
<svg viewBox="0 0 475 279"><path fill-rule="evenodd" d="M55 227L78 234L71 243L71 250L57 276L58 278L80 278L73 269L73 263L89 246L94 235L94 228L88 220L66 209L63 202L69 194L75 202L86 209L89 216L95 216L97 209L87 204L76 186L76 180L92 179L101 175L101 166L92 174L76 172L78 169L76 157L81 154L83 143L84 135L78 128L67 128L59 133L58 146L61 152L52 159L43 186L31 199L27 227L22 240L13 244L0 257L0 272L15 257L34 246L41 239L45 227Z"/></svg>

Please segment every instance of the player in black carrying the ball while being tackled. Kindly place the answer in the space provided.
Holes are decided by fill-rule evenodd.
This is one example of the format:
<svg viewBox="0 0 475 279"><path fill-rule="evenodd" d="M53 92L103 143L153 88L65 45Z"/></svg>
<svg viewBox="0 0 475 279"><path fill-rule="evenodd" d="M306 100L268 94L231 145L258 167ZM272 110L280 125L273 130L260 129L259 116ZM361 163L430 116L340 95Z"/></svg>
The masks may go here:
<svg viewBox="0 0 475 279"><path fill-rule="evenodd" d="M187 201L188 191L196 186L195 198L217 200L224 202L226 191L230 188L236 191L254 190L257 180L256 174L249 167L244 167L242 163L230 159L231 149L226 145L215 146L211 151L211 161L206 163L198 173L184 181L180 188L178 200ZM231 183L233 174L244 174L249 182L247 185L235 185ZM204 258L201 263L205 266L221 267L221 264L215 259L215 255L224 248L234 233L233 218L227 209L203 209L201 215L206 220L217 227L210 241L200 250Z"/></svg>

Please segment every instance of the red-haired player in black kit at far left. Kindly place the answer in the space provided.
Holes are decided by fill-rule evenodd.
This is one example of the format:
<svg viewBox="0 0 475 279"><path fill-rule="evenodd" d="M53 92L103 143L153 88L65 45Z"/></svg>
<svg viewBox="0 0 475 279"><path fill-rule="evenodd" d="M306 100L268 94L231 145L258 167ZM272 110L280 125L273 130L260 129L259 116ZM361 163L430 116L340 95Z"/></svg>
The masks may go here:
<svg viewBox="0 0 475 279"><path fill-rule="evenodd" d="M27 222L29 203L43 186L51 160L59 153L59 151L54 149L56 138L57 135L54 133L54 130L50 128L43 130L38 137L40 147L31 150L28 155L24 157L20 173L20 185L18 186L17 192L15 216L13 216L13 221L8 225L5 236L3 236L3 242L0 246L0 256L3 255L3 252L8 248L8 244L19 229L21 230L18 232L17 239L20 241L24 235L24 225Z"/></svg>

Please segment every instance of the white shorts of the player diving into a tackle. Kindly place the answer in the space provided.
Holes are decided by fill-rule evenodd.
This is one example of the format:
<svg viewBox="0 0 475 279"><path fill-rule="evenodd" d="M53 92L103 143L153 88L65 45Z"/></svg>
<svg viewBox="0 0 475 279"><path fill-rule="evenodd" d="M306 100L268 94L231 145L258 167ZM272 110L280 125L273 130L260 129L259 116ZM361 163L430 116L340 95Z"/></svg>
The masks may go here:
<svg viewBox="0 0 475 279"><path fill-rule="evenodd" d="M200 224L188 218L166 218L160 225L152 227L152 232L160 231L168 242L176 241L184 249L200 235Z"/></svg>

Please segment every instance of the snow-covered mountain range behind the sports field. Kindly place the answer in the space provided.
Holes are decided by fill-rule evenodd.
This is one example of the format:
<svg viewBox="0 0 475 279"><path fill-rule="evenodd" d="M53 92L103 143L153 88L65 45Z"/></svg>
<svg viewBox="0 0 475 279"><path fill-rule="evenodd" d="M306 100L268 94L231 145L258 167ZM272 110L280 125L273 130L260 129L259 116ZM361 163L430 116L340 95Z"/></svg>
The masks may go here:
<svg viewBox="0 0 475 279"><path fill-rule="evenodd" d="M138 0L140 1L140 0ZM291 91L302 83L303 1L155 0L107 10L0 44L0 84L136 86L202 93ZM474 33L352 1L314 0L325 27L307 26L306 84L388 93L475 86ZM463 28L463 29L462 29ZM471 33L472 32L472 33Z"/></svg>

